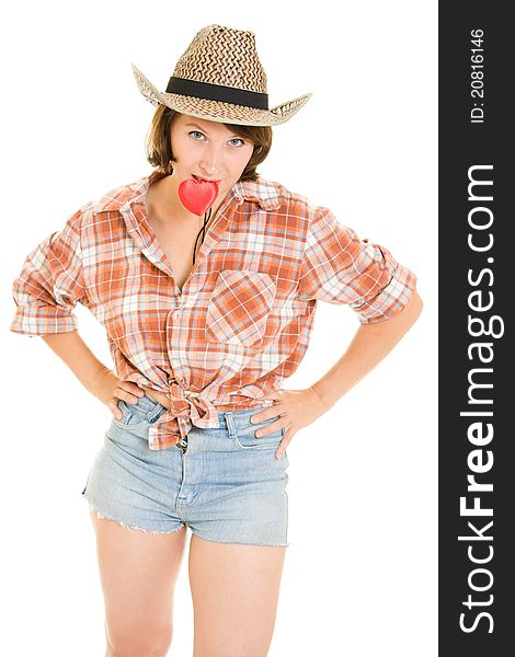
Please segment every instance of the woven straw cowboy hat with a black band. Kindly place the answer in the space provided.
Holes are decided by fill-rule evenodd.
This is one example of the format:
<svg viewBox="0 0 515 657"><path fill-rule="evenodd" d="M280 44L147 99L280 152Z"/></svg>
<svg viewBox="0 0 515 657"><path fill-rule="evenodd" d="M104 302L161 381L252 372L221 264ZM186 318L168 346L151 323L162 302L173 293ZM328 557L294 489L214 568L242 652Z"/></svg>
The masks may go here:
<svg viewBox="0 0 515 657"><path fill-rule="evenodd" d="M136 82L152 105L241 126L274 126L290 119L311 93L268 110L266 73L254 33L208 25L193 38L175 65L165 91L159 91L133 64Z"/></svg>

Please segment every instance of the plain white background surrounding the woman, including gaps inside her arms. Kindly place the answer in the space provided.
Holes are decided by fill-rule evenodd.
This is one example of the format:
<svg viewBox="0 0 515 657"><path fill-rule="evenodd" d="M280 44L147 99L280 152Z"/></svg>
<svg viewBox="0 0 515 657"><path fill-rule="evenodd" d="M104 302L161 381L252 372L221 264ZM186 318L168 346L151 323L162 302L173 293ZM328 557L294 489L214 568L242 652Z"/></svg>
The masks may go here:
<svg viewBox="0 0 515 657"><path fill-rule="evenodd" d="M334 13L337 10L337 15ZM289 526L271 657L437 654L437 4L10 4L1 41L2 654L104 654L103 598L81 492L110 411L38 337L9 331L26 254L88 200L151 171L153 113L130 62L164 90L195 33L252 30L271 106L311 91L274 128L259 171L419 277L424 311L397 348L288 447ZM110 367L103 327L79 328ZM357 315L319 303L285 389L322 377ZM186 548L187 550L187 548ZM171 655L193 646L187 552Z"/></svg>

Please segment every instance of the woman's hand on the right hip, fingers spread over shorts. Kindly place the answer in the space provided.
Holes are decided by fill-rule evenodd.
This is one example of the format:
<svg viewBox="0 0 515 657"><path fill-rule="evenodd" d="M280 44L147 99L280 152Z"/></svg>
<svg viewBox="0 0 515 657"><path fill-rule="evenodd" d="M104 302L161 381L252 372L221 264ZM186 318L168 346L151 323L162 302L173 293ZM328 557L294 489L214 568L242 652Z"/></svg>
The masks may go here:
<svg viewBox="0 0 515 657"><path fill-rule="evenodd" d="M300 428L307 427L329 411L329 407L324 404L314 388L307 388L306 390L275 390L262 399L273 400L274 404L255 415L251 415L250 420L252 424L256 424L281 415L281 417L267 427L259 429L255 433L255 437L261 438L279 429L286 429L281 446L275 452L276 459L281 459L291 442L291 438Z"/></svg>

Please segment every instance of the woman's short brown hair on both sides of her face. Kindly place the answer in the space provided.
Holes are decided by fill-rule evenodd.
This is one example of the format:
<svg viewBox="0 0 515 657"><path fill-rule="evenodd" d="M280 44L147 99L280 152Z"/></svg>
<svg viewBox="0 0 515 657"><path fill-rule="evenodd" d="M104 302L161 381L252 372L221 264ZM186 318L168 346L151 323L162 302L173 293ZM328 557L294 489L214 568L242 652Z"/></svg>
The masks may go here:
<svg viewBox="0 0 515 657"><path fill-rule="evenodd" d="M172 153L170 130L175 116L179 116L179 112L167 105L160 104L153 114L147 136L147 160L162 175L169 175L173 172L172 162L175 161L175 158ZM254 151L240 176L240 181L256 181L260 177L256 166L263 162L272 147L272 128L270 126L222 125L239 137L249 139L254 143Z"/></svg>

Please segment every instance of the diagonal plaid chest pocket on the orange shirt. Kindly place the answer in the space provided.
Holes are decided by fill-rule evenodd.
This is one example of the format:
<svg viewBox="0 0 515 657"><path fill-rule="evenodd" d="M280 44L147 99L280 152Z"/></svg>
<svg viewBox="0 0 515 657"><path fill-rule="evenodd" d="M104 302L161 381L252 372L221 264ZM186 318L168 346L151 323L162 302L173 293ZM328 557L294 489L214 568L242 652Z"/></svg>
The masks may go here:
<svg viewBox="0 0 515 657"><path fill-rule="evenodd" d="M276 285L262 272L222 269L207 307L207 339L255 346L264 336Z"/></svg>

